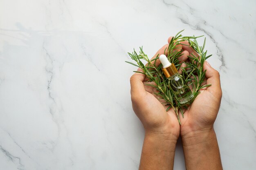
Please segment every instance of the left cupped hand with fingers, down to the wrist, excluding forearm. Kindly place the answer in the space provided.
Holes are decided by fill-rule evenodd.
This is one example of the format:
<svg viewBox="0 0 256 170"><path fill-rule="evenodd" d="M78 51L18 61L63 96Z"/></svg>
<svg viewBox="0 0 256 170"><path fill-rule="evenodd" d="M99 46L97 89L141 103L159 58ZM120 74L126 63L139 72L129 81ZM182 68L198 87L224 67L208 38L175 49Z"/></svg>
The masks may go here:
<svg viewBox="0 0 256 170"><path fill-rule="evenodd" d="M159 49L153 58L157 57L158 54L164 54L166 48L168 48L168 44ZM188 55L187 52L182 53ZM159 64L160 61L157 59L156 65ZM139 68L138 71L142 70ZM166 112L166 106L154 94L156 89L146 85L149 83L153 84L153 82L147 82L147 80L145 75L141 73L135 73L130 78L132 108L134 112L141 120L146 133L170 135L177 139L180 135L180 124L173 109L169 109Z"/></svg>

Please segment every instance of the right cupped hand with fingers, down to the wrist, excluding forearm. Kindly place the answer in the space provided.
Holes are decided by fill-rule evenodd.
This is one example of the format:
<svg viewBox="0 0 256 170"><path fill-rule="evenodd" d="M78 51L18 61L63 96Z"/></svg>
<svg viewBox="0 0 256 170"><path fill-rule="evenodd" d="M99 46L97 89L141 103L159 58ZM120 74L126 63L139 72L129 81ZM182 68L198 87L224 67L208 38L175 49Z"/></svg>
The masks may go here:
<svg viewBox="0 0 256 170"><path fill-rule="evenodd" d="M171 37L168 39L170 42ZM199 56L189 45L189 42L182 42L182 49L187 51L190 56ZM183 56L183 60L185 56ZM188 60L188 59L187 59ZM180 135L189 136L194 135L195 132L211 131L213 130L213 123L217 117L220 101L222 97L222 90L220 87L220 74L210 64L205 61L203 71L205 73L205 83L211 84L207 88L201 89L201 93L196 97L194 102L185 111L184 118L180 116L181 127Z"/></svg>

